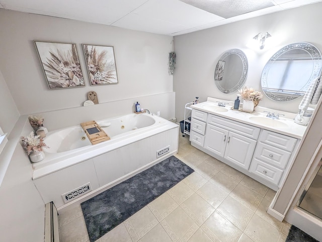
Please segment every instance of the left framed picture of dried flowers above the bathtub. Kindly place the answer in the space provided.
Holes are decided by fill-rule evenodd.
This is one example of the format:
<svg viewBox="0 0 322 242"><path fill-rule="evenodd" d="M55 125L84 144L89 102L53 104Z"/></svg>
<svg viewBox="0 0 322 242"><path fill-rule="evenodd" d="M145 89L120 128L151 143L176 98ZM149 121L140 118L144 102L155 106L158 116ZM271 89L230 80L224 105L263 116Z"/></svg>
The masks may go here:
<svg viewBox="0 0 322 242"><path fill-rule="evenodd" d="M85 86L76 44L34 41L49 89Z"/></svg>

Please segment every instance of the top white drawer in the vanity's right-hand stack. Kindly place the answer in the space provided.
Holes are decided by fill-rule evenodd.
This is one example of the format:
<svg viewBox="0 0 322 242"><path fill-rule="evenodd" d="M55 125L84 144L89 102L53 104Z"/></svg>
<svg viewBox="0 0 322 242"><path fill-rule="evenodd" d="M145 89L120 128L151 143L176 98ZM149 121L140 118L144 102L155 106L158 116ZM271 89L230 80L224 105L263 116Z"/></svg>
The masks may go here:
<svg viewBox="0 0 322 242"><path fill-rule="evenodd" d="M271 146L281 148L286 151L293 151L297 139L277 134L271 131L263 130L260 141Z"/></svg>

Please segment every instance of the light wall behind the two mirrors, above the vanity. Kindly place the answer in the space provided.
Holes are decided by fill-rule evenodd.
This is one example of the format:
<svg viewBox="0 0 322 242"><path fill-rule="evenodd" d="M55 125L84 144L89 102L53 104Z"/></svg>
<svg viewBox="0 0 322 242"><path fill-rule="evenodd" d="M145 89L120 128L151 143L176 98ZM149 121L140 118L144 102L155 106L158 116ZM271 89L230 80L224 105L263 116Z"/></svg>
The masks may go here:
<svg viewBox="0 0 322 242"><path fill-rule="evenodd" d="M177 54L174 72L176 92L176 117L183 119L184 105L199 96L234 100L238 91L230 94L220 92L214 83L214 70L220 56L229 49L242 50L249 63L245 85L261 89L262 70L269 58L282 47L296 42L309 42L322 51L322 32L317 23L322 21L322 3L307 5L283 12L269 14L249 20L214 27L175 37ZM260 32L269 32L272 46L264 50L247 47L252 38ZM268 42L269 43L269 42ZM300 99L277 102L264 96L260 106L297 112Z"/></svg>

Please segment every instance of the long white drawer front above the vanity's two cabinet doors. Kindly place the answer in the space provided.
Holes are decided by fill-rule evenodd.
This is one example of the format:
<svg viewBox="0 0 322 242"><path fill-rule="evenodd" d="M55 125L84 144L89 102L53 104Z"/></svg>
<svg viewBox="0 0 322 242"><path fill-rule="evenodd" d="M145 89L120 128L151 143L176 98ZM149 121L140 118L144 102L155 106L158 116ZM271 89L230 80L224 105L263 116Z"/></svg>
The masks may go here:
<svg viewBox="0 0 322 242"><path fill-rule="evenodd" d="M246 125L243 123L239 123L224 117L219 117L216 115L209 114L207 118L207 123L220 127L222 129L232 131L236 134L243 135L249 137L251 139L257 140L260 134L261 129Z"/></svg>

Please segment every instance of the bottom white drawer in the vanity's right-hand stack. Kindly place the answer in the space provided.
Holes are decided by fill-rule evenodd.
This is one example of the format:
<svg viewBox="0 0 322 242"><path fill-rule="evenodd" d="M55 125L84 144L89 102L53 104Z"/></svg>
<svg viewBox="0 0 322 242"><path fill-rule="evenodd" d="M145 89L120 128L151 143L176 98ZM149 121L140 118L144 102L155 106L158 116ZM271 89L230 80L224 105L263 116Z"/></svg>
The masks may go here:
<svg viewBox="0 0 322 242"><path fill-rule="evenodd" d="M281 169L278 169L277 167L271 166L257 159L254 159L252 161L249 171L275 185L278 185L283 175L283 171Z"/></svg>

